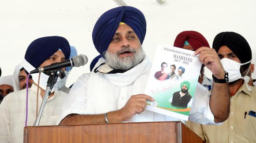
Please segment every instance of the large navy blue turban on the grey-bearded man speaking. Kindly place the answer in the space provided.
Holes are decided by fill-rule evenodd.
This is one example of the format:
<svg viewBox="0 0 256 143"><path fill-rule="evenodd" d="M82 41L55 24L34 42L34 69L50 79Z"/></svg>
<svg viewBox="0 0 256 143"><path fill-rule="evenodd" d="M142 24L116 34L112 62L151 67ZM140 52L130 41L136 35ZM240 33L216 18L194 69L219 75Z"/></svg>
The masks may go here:
<svg viewBox="0 0 256 143"><path fill-rule="evenodd" d="M92 38L95 48L104 57L120 22L129 25L141 44L146 34L146 19L141 11L131 6L120 6L103 13L93 28Z"/></svg>

